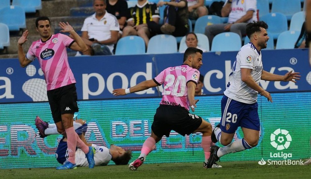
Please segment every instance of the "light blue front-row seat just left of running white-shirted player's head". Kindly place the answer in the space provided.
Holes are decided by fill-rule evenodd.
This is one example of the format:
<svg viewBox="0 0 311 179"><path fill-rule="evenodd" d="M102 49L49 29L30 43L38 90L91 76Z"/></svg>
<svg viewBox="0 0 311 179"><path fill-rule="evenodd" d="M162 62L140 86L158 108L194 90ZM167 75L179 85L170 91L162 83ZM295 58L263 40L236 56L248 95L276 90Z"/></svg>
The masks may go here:
<svg viewBox="0 0 311 179"><path fill-rule="evenodd" d="M213 38L211 51L239 51L241 47L239 34L223 32Z"/></svg>

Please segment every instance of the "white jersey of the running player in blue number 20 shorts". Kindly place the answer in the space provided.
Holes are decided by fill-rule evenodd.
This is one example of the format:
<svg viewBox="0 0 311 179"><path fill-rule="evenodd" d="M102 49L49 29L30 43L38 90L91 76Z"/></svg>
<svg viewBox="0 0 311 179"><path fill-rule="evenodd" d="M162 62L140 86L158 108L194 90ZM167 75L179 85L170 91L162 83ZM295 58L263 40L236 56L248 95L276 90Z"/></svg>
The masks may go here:
<svg viewBox="0 0 311 179"><path fill-rule="evenodd" d="M242 81L241 68L252 69L251 76L259 84L263 69L261 52L252 43L244 45L238 52L224 94L235 101L253 104L257 102L258 92Z"/></svg>

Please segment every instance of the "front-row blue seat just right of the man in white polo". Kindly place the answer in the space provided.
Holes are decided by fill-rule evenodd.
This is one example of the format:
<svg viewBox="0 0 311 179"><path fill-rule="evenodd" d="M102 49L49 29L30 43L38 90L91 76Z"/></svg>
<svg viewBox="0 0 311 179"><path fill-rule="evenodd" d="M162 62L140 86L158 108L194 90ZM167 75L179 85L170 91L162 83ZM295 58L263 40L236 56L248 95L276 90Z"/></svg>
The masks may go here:
<svg viewBox="0 0 311 179"><path fill-rule="evenodd" d="M115 55L138 55L145 54L146 45L143 38L130 35L123 38L117 43Z"/></svg>

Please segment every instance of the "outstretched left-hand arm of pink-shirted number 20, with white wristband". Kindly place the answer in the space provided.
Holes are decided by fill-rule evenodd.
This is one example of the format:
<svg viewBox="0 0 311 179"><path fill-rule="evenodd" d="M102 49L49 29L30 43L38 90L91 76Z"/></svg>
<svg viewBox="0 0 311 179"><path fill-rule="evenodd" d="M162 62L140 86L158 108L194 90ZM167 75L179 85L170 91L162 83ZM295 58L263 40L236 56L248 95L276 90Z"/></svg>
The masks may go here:
<svg viewBox="0 0 311 179"><path fill-rule="evenodd" d="M126 95L129 93L140 92L140 91L149 89L151 87L156 87L156 86L158 86L158 84L154 82L153 79L151 79L151 80L146 80L141 83L138 83L137 85L130 87L128 89L122 89L122 88L114 89L112 91L112 94L114 96Z"/></svg>

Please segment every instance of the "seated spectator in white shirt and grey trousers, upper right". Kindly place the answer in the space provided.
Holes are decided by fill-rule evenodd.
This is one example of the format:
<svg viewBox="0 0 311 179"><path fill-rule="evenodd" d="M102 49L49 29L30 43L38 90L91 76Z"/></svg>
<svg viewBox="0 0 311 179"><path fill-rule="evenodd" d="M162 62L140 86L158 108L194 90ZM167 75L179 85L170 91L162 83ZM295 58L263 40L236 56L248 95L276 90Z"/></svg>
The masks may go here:
<svg viewBox="0 0 311 179"><path fill-rule="evenodd" d="M210 43L213 38L223 32L234 32L242 36L246 34L248 22L257 21L257 0L226 0L221 9L221 16L228 18L228 23L213 24L205 27L205 35Z"/></svg>

